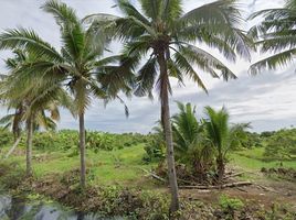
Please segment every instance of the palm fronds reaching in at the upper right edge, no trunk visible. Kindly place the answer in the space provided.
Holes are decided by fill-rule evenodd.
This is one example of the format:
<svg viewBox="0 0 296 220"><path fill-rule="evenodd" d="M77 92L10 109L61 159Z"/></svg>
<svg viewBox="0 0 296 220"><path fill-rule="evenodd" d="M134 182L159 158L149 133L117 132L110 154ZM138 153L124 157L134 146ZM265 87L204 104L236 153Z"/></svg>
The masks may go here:
<svg viewBox="0 0 296 220"><path fill-rule="evenodd" d="M272 53L267 58L251 66L251 73L262 69L275 69L292 63L296 55L296 1L285 0L284 8L267 9L255 12L251 19L264 16L263 21L253 26L251 35L257 40L261 52Z"/></svg>

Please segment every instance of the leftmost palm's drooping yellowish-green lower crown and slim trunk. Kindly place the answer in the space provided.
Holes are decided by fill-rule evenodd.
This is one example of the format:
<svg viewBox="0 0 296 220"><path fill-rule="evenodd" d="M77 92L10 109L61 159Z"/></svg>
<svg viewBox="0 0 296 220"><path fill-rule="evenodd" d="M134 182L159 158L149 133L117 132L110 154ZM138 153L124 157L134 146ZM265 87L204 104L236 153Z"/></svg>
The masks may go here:
<svg viewBox="0 0 296 220"><path fill-rule="evenodd" d="M54 128L55 121L60 120L60 112L57 106L60 101L64 101L66 94L59 86L54 86L49 89L44 89L44 85L40 84L36 88L34 85L20 86L20 81L15 80L17 76L14 74L9 75L2 82L9 85L7 88L1 88L1 97L8 100L13 100L22 106L22 113L19 114L18 123L24 122L27 130L27 175L32 175L32 140L33 132L39 127L45 129ZM45 112L50 112L51 119L46 117ZM15 117L14 117L15 118Z"/></svg>

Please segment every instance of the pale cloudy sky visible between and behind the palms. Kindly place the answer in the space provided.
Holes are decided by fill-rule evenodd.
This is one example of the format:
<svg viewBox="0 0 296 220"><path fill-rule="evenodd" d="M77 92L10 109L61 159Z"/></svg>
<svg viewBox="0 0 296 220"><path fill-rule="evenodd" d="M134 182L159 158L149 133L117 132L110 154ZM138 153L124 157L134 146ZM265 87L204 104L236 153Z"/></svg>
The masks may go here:
<svg viewBox="0 0 296 220"><path fill-rule="evenodd" d="M104 12L118 14L113 6L113 0L63 0L73 7L83 18L87 14ZM50 14L40 10L44 0L0 0L0 31L6 29L24 26L34 29L45 41L54 46L60 46L59 28ZM136 1L135 1L136 2ZM212 0L183 0L184 11ZM243 0L242 8L245 16L254 11L277 8L283 6L283 0ZM246 24L245 29L251 26ZM118 47L114 45L113 48ZM211 53L223 57L216 51ZM3 58L10 56L9 52L0 52L0 72L4 73ZM263 55L254 54L252 63ZM209 88L209 95L204 95L197 86L187 82L187 87L173 84L173 97L171 98L171 112L177 108L173 100L192 102L198 107L199 117L204 106L229 109L232 122L251 122L254 131L277 130L288 128L296 122L296 78L295 68L292 66L279 68L276 72L265 72L256 77L247 74L249 62L237 61L235 64L226 63L239 76L237 80L223 82L203 76ZM103 103L94 100L86 113L86 127L89 130L109 132L148 132L159 119L159 103L157 97L154 101L148 98L131 98L126 100L130 116L125 118L124 108L118 102L113 102L104 108ZM0 117L6 114L6 108L0 107ZM60 129L76 129L75 121L67 111L62 112Z"/></svg>

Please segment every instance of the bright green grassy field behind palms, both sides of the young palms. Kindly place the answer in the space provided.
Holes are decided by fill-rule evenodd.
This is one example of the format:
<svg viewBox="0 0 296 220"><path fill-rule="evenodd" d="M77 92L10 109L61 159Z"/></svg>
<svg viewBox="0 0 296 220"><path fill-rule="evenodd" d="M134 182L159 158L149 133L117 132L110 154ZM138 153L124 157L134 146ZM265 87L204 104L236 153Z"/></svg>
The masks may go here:
<svg viewBox="0 0 296 220"><path fill-rule="evenodd" d="M87 167L89 168L88 183L93 185L124 185L130 187L154 186L151 180L142 178L142 168L150 169L156 163L146 164L142 161L145 155L144 145L138 144L116 151L99 151L94 153L87 151ZM24 152L20 151L19 152ZM278 161L266 162L263 160L264 148L245 150L230 155L230 166L245 172L260 172L262 167L278 167ZM41 152L33 153L33 169L38 177L47 174L64 173L80 168L78 155L71 155L68 152ZM25 166L24 155L18 154L9 161L19 162ZM296 161L283 162L284 167L296 168ZM249 177L249 176L247 176Z"/></svg>

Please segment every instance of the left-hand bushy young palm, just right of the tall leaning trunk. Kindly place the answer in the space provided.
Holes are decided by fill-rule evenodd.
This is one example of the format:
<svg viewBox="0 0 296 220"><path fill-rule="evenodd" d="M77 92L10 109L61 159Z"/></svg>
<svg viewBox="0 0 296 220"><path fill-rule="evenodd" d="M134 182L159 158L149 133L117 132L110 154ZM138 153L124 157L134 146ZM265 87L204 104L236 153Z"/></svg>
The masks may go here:
<svg viewBox="0 0 296 220"><path fill-rule="evenodd" d="M195 107L177 102L179 113L172 117L172 134L177 156L183 163L190 163L200 180L204 180L205 170L213 158L213 147L205 138L204 123L198 121Z"/></svg>

